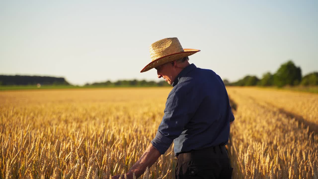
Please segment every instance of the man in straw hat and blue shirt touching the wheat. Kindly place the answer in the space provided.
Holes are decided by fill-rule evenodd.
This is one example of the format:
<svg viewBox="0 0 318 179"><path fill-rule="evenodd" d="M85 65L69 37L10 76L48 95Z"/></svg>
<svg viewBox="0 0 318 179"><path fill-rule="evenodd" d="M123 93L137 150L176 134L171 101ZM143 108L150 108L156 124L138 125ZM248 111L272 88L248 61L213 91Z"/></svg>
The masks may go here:
<svg viewBox="0 0 318 179"><path fill-rule="evenodd" d="M167 98L156 137L127 176L142 175L174 142L176 178L231 178L225 145L234 121L222 79L212 70L197 68L188 56L199 52L183 49L177 38L166 38L150 46L152 68L173 89ZM113 176L114 179L119 175Z"/></svg>

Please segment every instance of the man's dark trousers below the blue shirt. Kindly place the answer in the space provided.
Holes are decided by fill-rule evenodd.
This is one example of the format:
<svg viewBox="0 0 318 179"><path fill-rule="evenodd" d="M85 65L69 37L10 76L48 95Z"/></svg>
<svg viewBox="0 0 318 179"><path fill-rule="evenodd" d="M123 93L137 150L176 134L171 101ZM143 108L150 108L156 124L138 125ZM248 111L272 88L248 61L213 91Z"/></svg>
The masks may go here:
<svg viewBox="0 0 318 179"><path fill-rule="evenodd" d="M215 146L178 155L176 179L231 179L233 168L225 146Z"/></svg>

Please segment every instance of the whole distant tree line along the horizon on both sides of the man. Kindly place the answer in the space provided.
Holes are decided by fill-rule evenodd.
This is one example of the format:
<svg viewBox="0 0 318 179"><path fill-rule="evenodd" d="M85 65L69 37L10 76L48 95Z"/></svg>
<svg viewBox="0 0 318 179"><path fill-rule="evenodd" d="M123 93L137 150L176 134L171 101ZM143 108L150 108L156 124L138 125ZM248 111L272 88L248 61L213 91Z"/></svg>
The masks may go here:
<svg viewBox="0 0 318 179"><path fill-rule="evenodd" d="M255 75L247 75L244 78L229 82L224 80L225 85L232 86L316 86L318 85L318 72L312 72L305 76L301 75L301 68L296 67L293 61L283 63L274 73L266 72L262 78ZM51 76L23 76L23 75L0 75L0 85L72 85L63 77ZM105 86L105 87L121 87L121 86L171 86L165 81L155 82L146 80L118 80L115 82L94 82L86 83L86 87Z"/></svg>

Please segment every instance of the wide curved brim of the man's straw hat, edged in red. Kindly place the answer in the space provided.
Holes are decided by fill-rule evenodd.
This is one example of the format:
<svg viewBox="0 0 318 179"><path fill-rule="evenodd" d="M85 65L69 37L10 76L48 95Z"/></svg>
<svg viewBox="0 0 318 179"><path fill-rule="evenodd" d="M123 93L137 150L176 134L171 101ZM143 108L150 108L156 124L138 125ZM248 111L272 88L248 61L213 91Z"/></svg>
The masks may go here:
<svg viewBox="0 0 318 179"><path fill-rule="evenodd" d="M166 56L163 56L161 58L158 58L152 62L150 62L148 65L146 65L141 71L142 72L146 72L152 68L156 68L162 64L168 63L169 61L174 61L174 60L178 60L180 58L186 57L186 56L190 56L193 55L197 52L200 52L201 50L197 50L197 49L190 49L190 48L185 48L183 49L184 52L179 52L179 53L175 53L175 54L169 54Z"/></svg>

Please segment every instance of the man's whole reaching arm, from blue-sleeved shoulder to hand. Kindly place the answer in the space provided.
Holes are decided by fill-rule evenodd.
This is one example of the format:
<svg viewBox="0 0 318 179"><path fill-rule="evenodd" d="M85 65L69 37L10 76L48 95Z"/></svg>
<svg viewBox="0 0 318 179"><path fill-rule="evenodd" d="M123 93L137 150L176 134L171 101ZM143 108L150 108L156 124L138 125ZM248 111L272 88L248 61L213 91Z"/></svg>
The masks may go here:
<svg viewBox="0 0 318 179"><path fill-rule="evenodd" d="M160 155L168 150L200 105L201 100L196 99L197 94L192 91L192 86L182 89L172 89L169 93L156 136L139 161L129 170L128 178L132 178L134 172L136 178L141 176L147 167L154 164ZM119 175L113 177L118 178Z"/></svg>

